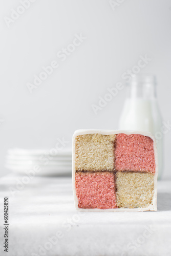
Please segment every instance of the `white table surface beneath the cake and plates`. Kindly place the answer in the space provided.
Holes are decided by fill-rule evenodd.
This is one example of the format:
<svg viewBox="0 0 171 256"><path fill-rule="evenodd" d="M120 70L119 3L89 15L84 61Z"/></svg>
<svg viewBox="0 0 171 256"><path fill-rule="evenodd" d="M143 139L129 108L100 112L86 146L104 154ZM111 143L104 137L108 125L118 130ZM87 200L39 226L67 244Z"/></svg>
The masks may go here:
<svg viewBox="0 0 171 256"><path fill-rule="evenodd" d="M0 179L0 255L171 255L171 181L158 182L156 212L77 212L70 177L33 177L18 190L22 178ZM3 248L6 196L9 252Z"/></svg>

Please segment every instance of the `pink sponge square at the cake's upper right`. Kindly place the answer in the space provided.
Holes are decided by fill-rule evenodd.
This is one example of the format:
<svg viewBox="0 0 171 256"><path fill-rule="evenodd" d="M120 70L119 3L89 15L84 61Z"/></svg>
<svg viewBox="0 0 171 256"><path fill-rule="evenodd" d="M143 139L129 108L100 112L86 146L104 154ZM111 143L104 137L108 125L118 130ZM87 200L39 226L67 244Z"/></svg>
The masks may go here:
<svg viewBox="0 0 171 256"><path fill-rule="evenodd" d="M118 134L115 144L115 170L155 173L153 140L140 134Z"/></svg>

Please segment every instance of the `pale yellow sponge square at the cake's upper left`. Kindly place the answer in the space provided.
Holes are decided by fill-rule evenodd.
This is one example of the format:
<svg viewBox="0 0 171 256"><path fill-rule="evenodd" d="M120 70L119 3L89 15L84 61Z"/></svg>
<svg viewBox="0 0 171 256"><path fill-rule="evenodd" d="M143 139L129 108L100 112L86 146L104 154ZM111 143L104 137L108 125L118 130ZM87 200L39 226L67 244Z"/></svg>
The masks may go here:
<svg viewBox="0 0 171 256"><path fill-rule="evenodd" d="M76 170L114 170L116 135L86 134L75 138Z"/></svg>

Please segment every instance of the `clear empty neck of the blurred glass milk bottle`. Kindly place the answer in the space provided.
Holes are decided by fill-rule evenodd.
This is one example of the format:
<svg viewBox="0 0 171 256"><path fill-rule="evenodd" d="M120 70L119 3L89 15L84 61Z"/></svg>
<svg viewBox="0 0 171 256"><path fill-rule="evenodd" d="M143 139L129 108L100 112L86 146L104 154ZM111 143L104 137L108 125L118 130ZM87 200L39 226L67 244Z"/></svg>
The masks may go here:
<svg viewBox="0 0 171 256"><path fill-rule="evenodd" d="M135 76L129 84L129 98L151 100L157 97L154 76Z"/></svg>

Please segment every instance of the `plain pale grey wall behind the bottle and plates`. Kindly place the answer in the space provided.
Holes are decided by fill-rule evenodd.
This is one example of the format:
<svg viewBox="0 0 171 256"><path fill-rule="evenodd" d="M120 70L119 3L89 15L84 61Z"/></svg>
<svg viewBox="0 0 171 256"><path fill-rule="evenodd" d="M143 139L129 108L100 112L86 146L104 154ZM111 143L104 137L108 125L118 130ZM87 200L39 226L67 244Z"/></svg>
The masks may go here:
<svg viewBox="0 0 171 256"><path fill-rule="evenodd" d="M122 74L140 56L151 59L141 72L156 74L163 120L171 122L171 1L29 3L0 2L1 176L8 173L4 157L9 147L52 148L62 137L71 145L76 129L117 129L125 87L97 114L92 104L98 105L109 87L124 84ZM76 40L75 34L83 38ZM75 48L70 45L74 39ZM67 47L62 57L59 51ZM34 84L34 75L53 60L58 67L30 93L28 83ZM163 178L171 178L170 139L171 129L164 135Z"/></svg>

